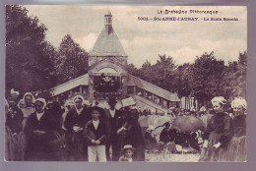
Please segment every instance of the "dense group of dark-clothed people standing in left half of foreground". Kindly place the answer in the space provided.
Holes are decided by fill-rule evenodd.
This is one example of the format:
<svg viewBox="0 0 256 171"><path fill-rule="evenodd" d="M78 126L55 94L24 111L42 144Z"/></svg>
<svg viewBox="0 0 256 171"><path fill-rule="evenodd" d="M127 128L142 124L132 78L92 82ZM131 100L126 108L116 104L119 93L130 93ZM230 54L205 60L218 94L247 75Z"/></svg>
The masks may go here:
<svg viewBox="0 0 256 171"><path fill-rule="evenodd" d="M21 100L6 101L6 129L13 137L23 135L21 156L12 160L131 161L131 153L132 160L145 160L133 98L125 99L129 104L120 110L114 98L107 101L107 109L81 95L73 100L74 106L62 107L57 101L34 99L27 92Z"/></svg>

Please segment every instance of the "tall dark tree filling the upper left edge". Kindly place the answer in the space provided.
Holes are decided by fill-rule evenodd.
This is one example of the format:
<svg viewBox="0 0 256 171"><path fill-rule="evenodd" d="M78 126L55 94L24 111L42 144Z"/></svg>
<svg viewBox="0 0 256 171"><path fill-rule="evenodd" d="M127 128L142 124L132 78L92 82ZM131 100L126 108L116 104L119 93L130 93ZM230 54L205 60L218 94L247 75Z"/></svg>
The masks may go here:
<svg viewBox="0 0 256 171"><path fill-rule="evenodd" d="M54 85L44 40L47 28L22 6L6 6L6 88L31 91Z"/></svg>

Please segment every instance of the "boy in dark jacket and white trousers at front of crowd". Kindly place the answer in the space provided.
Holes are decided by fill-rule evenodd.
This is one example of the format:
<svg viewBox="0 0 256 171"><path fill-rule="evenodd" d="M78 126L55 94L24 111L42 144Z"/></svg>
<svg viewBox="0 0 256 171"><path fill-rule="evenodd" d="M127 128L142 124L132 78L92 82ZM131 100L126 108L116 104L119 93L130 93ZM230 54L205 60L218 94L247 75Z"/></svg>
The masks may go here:
<svg viewBox="0 0 256 171"><path fill-rule="evenodd" d="M96 158L99 162L106 162L105 155L105 137L106 128L104 124L99 121L100 108L92 107L92 118L86 124L84 136L88 141L88 159L89 162L96 162Z"/></svg>

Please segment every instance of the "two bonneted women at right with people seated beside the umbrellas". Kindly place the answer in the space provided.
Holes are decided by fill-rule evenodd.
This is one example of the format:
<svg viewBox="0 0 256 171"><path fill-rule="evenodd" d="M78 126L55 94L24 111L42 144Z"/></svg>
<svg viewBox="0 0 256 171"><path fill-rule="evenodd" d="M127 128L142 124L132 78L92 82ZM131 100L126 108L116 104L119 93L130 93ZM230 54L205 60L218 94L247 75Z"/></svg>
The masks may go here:
<svg viewBox="0 0 256 171"><path fill-rule="evenodd" d="M193 147L200 153L199 161L246 161L245 99L235 98L231 102L231 110L229 108L225 110L226 100L222 96L213 98L211 102L213 115L208 120L205 130L182 133L172 128L171 123L166 122L160 132L160 142L168 145L168 149L174 153L178 152L177 144L182 147ZM198 117L193 113L192 116ZM154 139L156 137L153 134L154 130L155 128L150 126L146 133L146 144L149 146L157 143Z"/></svg>

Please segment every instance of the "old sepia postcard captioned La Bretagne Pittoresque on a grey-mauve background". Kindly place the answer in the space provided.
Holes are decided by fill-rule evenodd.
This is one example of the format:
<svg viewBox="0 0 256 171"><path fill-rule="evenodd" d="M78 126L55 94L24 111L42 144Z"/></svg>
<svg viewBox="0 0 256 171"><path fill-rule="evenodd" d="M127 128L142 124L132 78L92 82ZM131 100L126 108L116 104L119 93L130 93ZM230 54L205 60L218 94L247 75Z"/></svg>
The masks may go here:
<svg viewBox="0 0 256 171"><path fill-rule="evenodd" d="M245 6L6 6L6 161L246 162Z"/></svg>

